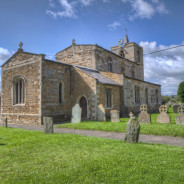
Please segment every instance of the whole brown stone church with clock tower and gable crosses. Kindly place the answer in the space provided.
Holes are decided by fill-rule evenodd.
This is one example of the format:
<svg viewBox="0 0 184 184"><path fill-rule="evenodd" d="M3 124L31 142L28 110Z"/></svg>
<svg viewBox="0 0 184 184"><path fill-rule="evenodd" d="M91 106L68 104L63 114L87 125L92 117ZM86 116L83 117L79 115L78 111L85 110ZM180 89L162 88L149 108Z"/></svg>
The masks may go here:
<svg viewBox="0 0 184 184"><path fill-rule="evenodd" d="M82 118L91 120L98 120L99 105L108 118L111 110L126 117L141 104L149 111L161 104L161 86L144 81L143 48L127 35L110 51L73 40L55 61L19 46L1 66L1 114L8 123L40 125L44 116L70 120L76 103Z"/></svg>

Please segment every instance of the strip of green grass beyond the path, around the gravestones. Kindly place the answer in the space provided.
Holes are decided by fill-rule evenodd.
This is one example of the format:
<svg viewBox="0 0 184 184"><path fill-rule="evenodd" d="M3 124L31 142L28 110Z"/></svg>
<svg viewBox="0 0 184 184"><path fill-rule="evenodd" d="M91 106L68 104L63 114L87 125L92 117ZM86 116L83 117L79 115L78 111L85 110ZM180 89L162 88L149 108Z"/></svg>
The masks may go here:
<svg viewBox="0 0 184 184"><path fill-rule="evenodd" d="M184 137L184 126L176 125L175 118L178 114L173 113L170 108L168 114L171 117L170 124L157 123L157 116L159 113L151 114L151 124L141 124L141 134L152 135L170 135ZM128 118L121 118L119 123L98 122L98 121L82 121L81 123L65 123L58 125L58 128L71 128L71 129L83 129L83 130L100 130L111 132L125 132Z"/></svg>

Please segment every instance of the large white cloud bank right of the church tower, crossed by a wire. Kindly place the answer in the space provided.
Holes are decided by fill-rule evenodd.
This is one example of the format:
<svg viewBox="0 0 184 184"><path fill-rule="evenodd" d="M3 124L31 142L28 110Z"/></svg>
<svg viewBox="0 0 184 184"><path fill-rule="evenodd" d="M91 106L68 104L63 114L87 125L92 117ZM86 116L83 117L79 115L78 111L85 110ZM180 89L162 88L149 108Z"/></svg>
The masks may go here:
<svg viewBox="0 0 184 184"><path fill-rule="evenodd" d="M184 42L183 42L184 44ZM171 48L177 45L157 45L156 42L140 42L144 53ZM184 81L184 47L144 56L145 80L162 85L163 95L177 93Z"/></svg>

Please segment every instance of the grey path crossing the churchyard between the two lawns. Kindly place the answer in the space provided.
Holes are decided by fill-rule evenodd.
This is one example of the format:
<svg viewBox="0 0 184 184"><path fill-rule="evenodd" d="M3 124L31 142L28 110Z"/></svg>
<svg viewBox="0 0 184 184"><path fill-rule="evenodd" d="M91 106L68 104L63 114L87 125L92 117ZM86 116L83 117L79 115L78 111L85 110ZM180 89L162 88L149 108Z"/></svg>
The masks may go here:
<svg viewBox="0 0 184 184"><path fill-rule="evenodd" d="M26 125L8 125L12 128L21 128L27 130L44 131L43 126L26 126ZM56 126L56 125L55 125ZM68 129L68 128L56 128L54 126L55 133L66 133L66 134L78 134L91 137L101 137L107 139L117 139L124 140L125 133L119 132L103 132L97 130L78 130L78 129ZM156 135L139 135L139 142L143 143L153 143L153 144L168 144L172 146L184 147L184 138L182 137L172 137L172 136L156 136Z"/></svg>

